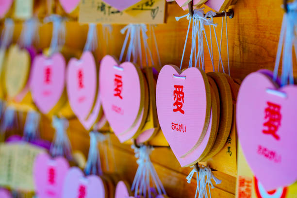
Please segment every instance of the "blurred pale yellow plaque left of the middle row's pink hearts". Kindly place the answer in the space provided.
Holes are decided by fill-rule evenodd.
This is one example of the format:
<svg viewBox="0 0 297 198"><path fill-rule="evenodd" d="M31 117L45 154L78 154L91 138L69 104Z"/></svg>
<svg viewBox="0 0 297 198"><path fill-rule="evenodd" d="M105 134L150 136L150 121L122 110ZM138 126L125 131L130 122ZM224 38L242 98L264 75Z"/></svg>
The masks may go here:
<svg viewBox="0 0 297 198"><path fill-rule="evenodd" d="M25 49L17 45L10 47L5 71L5 88L9 99L16 97L26 86L29 78L31 58Z"/></svg>

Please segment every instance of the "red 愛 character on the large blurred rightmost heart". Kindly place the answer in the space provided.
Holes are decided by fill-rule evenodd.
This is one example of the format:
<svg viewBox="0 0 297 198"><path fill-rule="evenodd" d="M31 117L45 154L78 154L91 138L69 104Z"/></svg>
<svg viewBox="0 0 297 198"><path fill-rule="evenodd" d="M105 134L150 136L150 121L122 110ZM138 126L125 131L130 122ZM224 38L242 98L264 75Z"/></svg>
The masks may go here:
<svg viewBox="0 0 297 198"><path fill-rule="evenodd" d="M279 140L280 136L276 134L281 126L281 106L272 102L267 102L268 107L265 108L266 122L263 124L266 129L265 134L271 134L275 139Z"/></svg>

